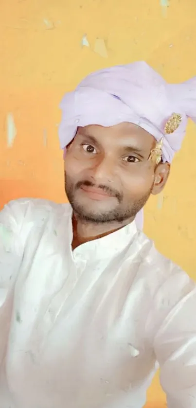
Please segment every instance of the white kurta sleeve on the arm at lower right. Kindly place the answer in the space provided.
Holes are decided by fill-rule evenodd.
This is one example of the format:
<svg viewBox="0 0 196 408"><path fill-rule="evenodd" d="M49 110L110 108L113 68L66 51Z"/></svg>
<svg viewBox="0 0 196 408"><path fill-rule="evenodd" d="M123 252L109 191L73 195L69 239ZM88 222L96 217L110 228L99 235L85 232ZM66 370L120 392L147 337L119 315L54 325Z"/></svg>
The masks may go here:
<svg viewBox="0 0 196 408"><path fill-rule="evenodd" d="M167 407L196 408L196 285L176 271L155 302L154 351Z"/></svg>

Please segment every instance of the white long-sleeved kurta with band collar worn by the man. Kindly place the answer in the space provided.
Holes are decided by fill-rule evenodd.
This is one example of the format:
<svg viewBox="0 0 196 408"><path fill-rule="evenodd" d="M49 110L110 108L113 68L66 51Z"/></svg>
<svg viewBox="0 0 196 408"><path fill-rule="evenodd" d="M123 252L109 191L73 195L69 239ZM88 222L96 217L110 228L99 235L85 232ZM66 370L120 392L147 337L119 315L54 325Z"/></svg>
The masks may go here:
<svg viewBox="0 0 196 408"><path fill-rule="evenodd" d="M0 408L196 408L196 286L135 223L71 250L71 207L0 213Z"/></svg>

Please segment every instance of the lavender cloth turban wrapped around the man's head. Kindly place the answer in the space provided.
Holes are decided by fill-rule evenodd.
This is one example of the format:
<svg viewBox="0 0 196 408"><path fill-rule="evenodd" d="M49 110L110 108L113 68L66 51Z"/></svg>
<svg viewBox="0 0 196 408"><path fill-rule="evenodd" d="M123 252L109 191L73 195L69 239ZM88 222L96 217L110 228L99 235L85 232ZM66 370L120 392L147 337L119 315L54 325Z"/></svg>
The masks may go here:
<svg viewBox="0 0 196 408"><path fill-rule="evenodd" d="M74 138L78 126L137 124L157 141L163 137L162 157L171 163L182 144L188 118L196 122L196 76L181 84L168 84L144 61L96 71L65 94L60 107L59 139L62 149ZM173 113L181 123L172 134L164 126ZM143 219L139 214L138 226Z"/></svg>

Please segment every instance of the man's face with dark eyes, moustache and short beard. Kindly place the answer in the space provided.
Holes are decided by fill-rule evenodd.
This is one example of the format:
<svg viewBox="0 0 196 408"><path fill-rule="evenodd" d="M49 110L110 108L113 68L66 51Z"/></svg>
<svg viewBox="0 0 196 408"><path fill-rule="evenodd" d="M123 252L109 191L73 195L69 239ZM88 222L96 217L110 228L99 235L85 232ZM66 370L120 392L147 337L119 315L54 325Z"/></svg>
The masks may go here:
<svg viewBox="0 0 196 408"><path fill-rule="evenodd" d="M135 217L152 192L156 141L137 125L79 127L65 156L65 186L73 211L94 223Z"/></svg>

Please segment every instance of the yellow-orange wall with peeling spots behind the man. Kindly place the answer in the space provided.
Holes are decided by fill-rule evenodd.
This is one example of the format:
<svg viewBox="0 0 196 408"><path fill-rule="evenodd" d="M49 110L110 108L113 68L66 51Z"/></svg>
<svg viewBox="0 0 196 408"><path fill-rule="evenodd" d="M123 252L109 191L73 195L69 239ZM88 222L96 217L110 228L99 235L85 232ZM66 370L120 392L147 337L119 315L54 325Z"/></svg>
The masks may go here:
<svg viewBox="0 0 196 408"><path fill-rule="evenodd" d="M90 71L143 59L168 81L196 75L195 16L195 0L171 0L167 9L159 0L1 0L0 206L20 196L65 200L58 105ZM89 48L81 47L84 34ZM108 58L93 52L96 38ZM9 112L18 131L12 148ZM146 207L145 232L193 278L195 203L196 126L189 124L164 195ZM157 376L147 407L164 406Z"/></svg>

